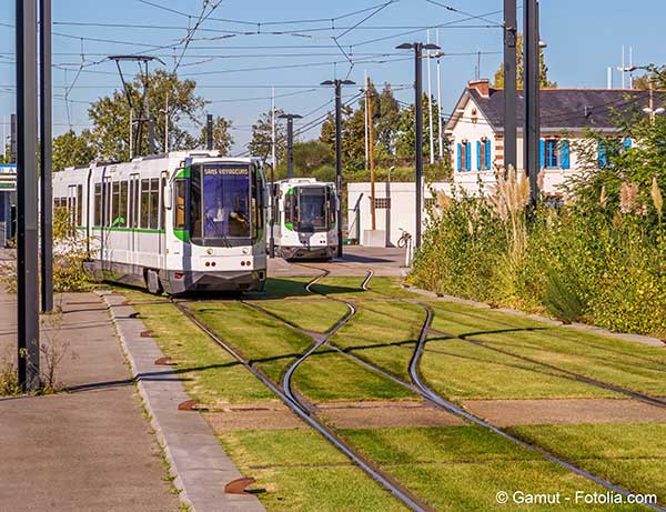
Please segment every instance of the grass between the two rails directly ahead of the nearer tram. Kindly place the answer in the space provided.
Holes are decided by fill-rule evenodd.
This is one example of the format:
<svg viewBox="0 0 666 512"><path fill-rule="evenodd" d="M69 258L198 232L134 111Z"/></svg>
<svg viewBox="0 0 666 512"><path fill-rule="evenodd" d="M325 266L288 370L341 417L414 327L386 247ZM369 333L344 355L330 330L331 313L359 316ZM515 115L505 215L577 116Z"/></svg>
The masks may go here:
<svg viewBox="0 0 666 512"><path fill-rule="evenodd" d="M274 382L313 344L309 337L239 302L195 302L190 308Z"/></svg>

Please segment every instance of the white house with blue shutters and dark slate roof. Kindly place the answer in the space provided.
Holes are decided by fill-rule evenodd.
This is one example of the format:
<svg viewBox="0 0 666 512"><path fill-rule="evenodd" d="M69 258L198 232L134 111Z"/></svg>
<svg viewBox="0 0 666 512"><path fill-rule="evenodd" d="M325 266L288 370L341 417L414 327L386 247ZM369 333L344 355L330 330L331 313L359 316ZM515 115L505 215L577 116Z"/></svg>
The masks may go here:
<svg viewBox="0 0 666 512"><path fill-rule="evenodd" d="M544 89L541 91L541 165L544 192L558 193L559 185L581 169L576 142L592 129L608 137L617 133L619 112L646 116L650 92L619 89ZM653 94L660 106L666 96ZM517 168L523 169L524 98L517 99ZM495 172L504 169L504 91L490 87L488 80L468 83L445 128L451 144L453 182L471 193L480 183L487 190ZM632 140L624 141L630 148ZM598 148L598 161L605 161Z"/></svg>

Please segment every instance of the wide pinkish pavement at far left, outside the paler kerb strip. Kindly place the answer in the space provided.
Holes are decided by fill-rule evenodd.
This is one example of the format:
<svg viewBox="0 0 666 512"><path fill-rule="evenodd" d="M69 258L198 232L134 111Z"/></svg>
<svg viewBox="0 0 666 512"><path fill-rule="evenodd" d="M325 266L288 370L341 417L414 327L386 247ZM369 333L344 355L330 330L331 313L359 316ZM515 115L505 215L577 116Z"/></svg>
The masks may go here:
<svg viewBox="0 0 666 512"><path fill-rule="evenodd" d="M10 357L14 305L0 289L0 354ZM179 510L105 305L84 293L62 307L42 339L69 343L59 380L72 392L0 398L0 510Z"/></svg>

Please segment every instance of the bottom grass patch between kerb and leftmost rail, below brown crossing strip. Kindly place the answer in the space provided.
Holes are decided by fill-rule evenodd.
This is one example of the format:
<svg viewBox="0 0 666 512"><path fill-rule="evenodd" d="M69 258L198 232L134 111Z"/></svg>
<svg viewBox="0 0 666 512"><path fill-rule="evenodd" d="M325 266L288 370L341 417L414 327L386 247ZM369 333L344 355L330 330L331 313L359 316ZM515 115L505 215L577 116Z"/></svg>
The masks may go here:
<svg viewBox="0 0 666 512"><path fill-rule="evenodd" d="M220 435L244 474L256 479L269 511L405 511L396 499L311 430ZM349 464L349 465L347 465Z"/></svg>

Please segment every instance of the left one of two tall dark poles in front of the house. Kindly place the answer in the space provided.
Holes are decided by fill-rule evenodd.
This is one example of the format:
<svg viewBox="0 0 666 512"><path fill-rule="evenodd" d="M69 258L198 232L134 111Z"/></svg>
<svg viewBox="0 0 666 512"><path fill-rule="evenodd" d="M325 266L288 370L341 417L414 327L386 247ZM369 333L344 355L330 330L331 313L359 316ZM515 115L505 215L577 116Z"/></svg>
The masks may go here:
<svg viewBox="0 0 666 512"><path fill-rule="evenodd" d="M518 33L516 0L504 0L504 169L518 167L517 72Z"/></svg>

